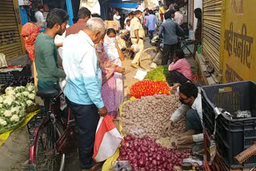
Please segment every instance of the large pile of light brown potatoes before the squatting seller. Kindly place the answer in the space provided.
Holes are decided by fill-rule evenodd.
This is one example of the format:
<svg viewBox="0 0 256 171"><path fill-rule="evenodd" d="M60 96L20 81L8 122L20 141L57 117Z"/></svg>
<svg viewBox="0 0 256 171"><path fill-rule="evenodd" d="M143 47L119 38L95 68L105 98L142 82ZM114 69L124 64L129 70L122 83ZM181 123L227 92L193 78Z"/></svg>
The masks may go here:
<svg viewBox="0 0 256 171"><path fill-rule="evenodd" d="M156 139L166 137L169 134L182 133L185 129L184 119L174 125L174 130L162 135L162 129L166 122L170 121L170 115L180 105L178 94L155 94L154 96L128 101L122 108L122 133L125 136L135 137L148 135Z"/></svg>

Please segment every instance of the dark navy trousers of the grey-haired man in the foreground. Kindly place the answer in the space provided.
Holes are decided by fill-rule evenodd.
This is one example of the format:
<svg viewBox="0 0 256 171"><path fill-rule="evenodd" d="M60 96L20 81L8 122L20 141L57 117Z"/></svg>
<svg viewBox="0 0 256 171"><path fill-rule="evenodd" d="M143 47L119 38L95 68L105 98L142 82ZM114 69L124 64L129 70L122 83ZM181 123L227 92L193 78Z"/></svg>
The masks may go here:
<svg viewBox="0 0 256 171"><path fill-rule="evenodd" d="M99 121L96 105L78 105L67 99L67 104L74 112L78 127L78 153L82 169L90 169L95 162L94 155L95 133Z"/></svg>

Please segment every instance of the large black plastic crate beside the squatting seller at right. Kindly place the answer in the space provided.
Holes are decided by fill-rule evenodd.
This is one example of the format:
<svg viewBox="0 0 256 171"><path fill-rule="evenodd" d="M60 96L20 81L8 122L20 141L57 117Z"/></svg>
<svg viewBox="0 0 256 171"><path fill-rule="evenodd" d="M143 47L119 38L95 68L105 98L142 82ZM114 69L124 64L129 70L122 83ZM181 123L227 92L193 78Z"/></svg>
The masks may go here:
<svg viewBox="0 0 256 171"><path fill-rule="evenodd" d="M254 82L234 82L202 87L203 121L206 129L214 128L214 106L225 109L230 114L238 110L256 109L256 85ZM209 124L210 123L210 124ZM256 117L230 119L218 116L216 120L216 144L226 165L231 168L250 167L256 164L251 157L242 165L234 157L256 141ZM213 133L213 132L210 132Z"/></svg>

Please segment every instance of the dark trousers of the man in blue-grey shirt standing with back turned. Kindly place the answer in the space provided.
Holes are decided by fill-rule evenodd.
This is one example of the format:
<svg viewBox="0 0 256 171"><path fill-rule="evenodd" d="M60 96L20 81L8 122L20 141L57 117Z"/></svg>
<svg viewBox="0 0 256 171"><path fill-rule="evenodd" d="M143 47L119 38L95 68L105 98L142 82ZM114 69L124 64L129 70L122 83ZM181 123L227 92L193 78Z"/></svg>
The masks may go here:
<svg viewBox="0 0 256 171"><path fill-rule="evenodd" d="M174 51L177 50L178 44L164 45L162 49L162 66L166 66L170 59L170 62L174 60Z"/></svg>

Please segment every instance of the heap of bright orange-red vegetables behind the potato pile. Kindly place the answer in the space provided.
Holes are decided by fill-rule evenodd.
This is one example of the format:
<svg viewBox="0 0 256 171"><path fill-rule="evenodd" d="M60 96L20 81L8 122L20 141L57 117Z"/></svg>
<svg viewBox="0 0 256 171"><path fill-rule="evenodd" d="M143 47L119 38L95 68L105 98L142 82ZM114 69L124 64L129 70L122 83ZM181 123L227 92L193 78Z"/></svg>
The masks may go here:
<svg viewBox="0 0 256 171"><path fill-rule="evenodd" d="M141 98L143 96L153 96L154 94L170 94L170 87L166 82L143 80L134 83L130 88L130 97Z"/></svg>

